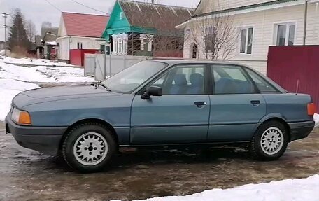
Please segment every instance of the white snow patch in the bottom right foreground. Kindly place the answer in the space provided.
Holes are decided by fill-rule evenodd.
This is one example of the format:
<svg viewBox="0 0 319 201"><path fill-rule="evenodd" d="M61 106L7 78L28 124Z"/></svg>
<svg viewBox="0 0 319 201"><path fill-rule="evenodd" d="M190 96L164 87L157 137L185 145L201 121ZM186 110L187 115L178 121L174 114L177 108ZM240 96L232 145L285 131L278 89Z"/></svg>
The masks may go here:
<svg viewBox="0 0 319 201"><path fill-rule="evenodd" d="M231 189L213 189L187 196L157 197L147 201L318 201L319 175L308 179L288 179L248 184ZM146 201L146 200L145 200Z"/></svg>

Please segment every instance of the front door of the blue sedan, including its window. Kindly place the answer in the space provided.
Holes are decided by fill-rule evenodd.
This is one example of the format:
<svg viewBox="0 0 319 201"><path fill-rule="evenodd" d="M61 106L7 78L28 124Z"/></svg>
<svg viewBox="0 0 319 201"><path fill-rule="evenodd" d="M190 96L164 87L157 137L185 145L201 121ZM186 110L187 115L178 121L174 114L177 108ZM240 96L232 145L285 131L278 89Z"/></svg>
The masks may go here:
<svg viewBox="0 0 319 201"><path fill-rule="evenodd" d="M210 100L205 64L183 64L155 78L161 97L132 102L130 140L133 145L187 144L206 141ZM148 86L149 86L148 85Z"/></svg>

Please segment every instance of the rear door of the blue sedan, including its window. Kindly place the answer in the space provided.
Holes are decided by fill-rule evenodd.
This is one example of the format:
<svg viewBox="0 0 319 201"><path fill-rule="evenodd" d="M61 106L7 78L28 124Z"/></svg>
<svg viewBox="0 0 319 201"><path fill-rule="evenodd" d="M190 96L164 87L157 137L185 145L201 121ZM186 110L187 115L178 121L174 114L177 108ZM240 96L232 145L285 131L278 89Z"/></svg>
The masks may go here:
<svg viewBox="0 0 319 201"><path fill-rule="evenodd" d="M266 114L266 102L243 67L214 64L208 141L246 141Z"/></svg>

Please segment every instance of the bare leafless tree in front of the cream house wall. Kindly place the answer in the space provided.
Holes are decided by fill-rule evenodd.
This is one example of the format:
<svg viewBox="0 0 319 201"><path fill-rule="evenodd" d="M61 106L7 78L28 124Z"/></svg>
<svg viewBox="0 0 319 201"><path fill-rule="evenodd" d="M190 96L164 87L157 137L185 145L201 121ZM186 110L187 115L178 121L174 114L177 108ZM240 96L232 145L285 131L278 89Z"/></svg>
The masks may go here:
<svg viewBox="0 0 319 201"><path fill-rule="evenodd" d="M233 55L238 37L239 30L229 13L193 18L185 29L187 46L197 46L197 53L209 60L225 60Z"/></svg>

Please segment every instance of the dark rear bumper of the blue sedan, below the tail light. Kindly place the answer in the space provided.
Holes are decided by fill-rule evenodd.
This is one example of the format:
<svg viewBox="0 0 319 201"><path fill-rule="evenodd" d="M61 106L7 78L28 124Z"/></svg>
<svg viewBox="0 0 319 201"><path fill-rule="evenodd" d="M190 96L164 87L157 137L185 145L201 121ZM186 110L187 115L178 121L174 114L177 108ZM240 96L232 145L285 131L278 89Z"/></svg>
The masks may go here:
<svg viewBox="0 0 319 201"><path fill-rule="evenodd" d="M304 139L309 136L315 127L314 121L306 121L300 123L288 123L290 127L290 141Z"/></svg>

